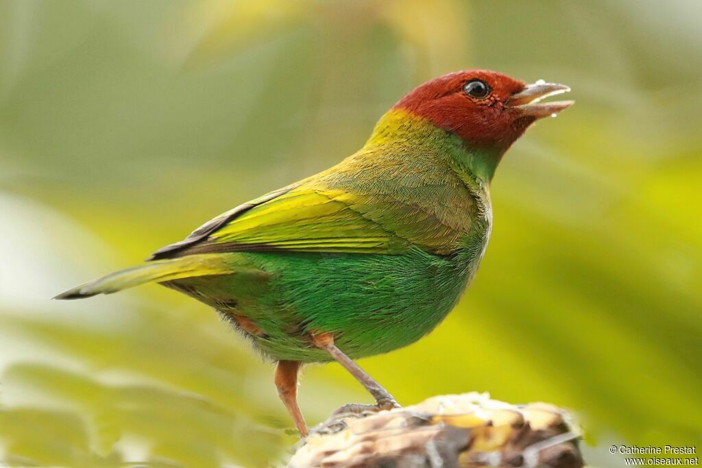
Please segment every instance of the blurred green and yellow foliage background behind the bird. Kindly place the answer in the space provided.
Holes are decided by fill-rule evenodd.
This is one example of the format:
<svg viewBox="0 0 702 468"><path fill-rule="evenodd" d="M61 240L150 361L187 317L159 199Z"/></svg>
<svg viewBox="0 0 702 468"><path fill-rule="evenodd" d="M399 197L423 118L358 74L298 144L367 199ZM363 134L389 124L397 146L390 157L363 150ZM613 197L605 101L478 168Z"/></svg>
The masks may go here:
<svg viewBox="0 0 702 468"><path fill-rule="evenodd" d="M568 83L492 187L472 288L361 361L402 403L489 391L611 443L700 443L698 1L0 1L0 454L11 465L279 465L272 366L159 286L49 298L331 166L418 83ZM310 366L312 424L369 397Z"/></svg>

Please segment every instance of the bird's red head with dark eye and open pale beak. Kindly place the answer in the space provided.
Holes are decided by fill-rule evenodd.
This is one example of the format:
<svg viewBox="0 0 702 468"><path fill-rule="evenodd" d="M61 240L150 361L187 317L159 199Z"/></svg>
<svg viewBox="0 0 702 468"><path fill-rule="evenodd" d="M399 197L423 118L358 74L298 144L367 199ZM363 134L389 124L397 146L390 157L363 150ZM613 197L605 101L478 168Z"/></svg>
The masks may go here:
<svg viewBox="0 0 702 468"><path fill-rule="evenodd" d="M490 70L464 70L428 81L404 96L393 109L404 109L456 133L475 147L504 151L531 123L571 105L538 103L569 91L564 85L523 81Z"/></svg>

